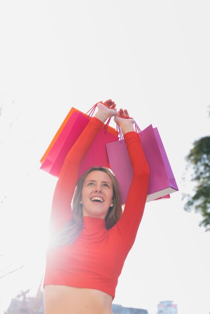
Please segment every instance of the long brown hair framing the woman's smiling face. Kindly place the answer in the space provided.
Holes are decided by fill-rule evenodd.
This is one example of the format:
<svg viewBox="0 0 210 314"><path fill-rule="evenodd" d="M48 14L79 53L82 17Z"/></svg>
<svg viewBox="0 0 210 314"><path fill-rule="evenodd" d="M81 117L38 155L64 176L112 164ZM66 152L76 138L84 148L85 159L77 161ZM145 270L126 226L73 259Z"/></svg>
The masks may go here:
<svg viewBox="0 0 210 314"><path fill-rule="evenodd" d="M113 207L110 207L105 218L107 229L111 229L122 216L121 194L116 177L108 168L90 168L77 182L72 199L72 218L67 221L51 242L51 247L71 245L80 235L83 228L82 187L86 176L92 171L107 173L113 182Z"/></svg>

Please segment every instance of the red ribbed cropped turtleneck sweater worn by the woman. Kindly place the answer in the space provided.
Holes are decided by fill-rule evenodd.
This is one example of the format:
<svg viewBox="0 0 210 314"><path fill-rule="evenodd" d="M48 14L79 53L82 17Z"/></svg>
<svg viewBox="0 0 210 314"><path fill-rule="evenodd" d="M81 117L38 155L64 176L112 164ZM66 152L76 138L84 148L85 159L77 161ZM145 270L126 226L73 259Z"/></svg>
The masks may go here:
<svg viewBox="0 0 210 314"><path fill-rule="evenodd" d="M91 118L65 158L52 202L50 224L54 233L71 219L70 204L79 165L102 125L97 118ZM139 136L129 132L124 138L134 177L122 217L109 230L104 219L83 217L82 232L71 245L48 250L44 286L98 289L115 297L118 277L143 216L149 183L149 168Z"/></svg>

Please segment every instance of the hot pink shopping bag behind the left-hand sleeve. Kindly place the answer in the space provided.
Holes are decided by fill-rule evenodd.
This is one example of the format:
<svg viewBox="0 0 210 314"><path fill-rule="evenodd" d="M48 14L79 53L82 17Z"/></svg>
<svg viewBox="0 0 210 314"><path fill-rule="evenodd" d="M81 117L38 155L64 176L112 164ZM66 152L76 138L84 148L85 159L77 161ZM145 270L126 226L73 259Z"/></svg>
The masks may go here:
<svg viewBox="0 0 210 314"><path fill-rule="evenodd" d="M57 137L52 148L48 152L40 169L58 177L65 160L65 156L88 122L89 117L85 116L81 112L74 111ZM96 135L80 165L79 176L84 174L85 171L91 167L108 166L109 159L106 150L106 143L118 140L116 131L115 134L113 134L113 132L109 132L109 128L110 127L108 127L106 131L102 128Z"/></svg>

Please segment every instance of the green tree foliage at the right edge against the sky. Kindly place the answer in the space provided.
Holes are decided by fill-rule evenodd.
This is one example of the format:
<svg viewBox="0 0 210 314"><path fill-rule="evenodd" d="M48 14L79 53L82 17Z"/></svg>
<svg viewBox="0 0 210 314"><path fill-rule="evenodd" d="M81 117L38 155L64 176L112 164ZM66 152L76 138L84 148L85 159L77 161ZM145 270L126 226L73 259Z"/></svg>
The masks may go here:
<svg viewBox="0 0 210 314"><path fill-rule="evenodd" d="M203 220L199 225L210 231L210 136L201 137L193 142L186 161L193 169L191 180L195 182L195 194L188 196L184 209L200 212Z"/></svg>

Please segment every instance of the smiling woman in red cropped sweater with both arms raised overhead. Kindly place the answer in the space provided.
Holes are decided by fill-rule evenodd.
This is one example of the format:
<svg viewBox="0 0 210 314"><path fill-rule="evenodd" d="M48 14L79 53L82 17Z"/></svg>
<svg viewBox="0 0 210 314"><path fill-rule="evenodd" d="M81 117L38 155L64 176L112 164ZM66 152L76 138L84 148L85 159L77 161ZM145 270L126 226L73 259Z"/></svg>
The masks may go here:
<svg viewBox="0 0 210 314"><path fill-rule="evenodd" d="M111 99L105 104L98 103L98 111L68 152L55 188L45 314L112 314L118 277L143 216L149 168L134 120L127 110L117 112ZM119 187L108 169L90 169L76 185L84 155L112 116L122 129L134 171L123 214Z"/></svg>

